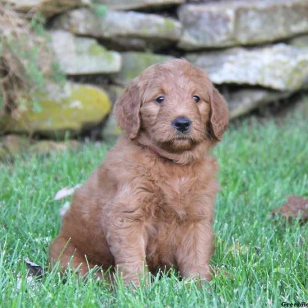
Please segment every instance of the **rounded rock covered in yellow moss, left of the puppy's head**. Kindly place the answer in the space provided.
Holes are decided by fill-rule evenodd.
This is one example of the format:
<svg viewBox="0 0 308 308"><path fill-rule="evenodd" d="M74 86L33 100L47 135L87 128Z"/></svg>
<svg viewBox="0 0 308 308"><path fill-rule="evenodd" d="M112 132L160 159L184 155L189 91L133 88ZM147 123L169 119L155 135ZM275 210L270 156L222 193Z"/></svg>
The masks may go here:
<svg viewBox="0 0 308 308"><path fill-rule="evenodd" d="M98 87L67 82L65 86L48 85L38 99L40 111L27 108L6 116L6 133L38 133L64 138L81 133L101 123L111 109L105 91Z"/></svg>

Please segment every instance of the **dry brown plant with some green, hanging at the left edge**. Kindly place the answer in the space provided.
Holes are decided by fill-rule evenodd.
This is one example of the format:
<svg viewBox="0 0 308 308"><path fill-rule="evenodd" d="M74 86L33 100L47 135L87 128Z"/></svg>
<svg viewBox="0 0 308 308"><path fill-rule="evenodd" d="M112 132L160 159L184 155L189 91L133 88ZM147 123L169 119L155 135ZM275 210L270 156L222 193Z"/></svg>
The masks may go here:
<svg viewBox="0 0 308 308"><path fill-rule="evenodd" d="M37 95L56 71L42 21L26 17L0 6L0 99L2 112L12 115L37 109Z"/></svg>

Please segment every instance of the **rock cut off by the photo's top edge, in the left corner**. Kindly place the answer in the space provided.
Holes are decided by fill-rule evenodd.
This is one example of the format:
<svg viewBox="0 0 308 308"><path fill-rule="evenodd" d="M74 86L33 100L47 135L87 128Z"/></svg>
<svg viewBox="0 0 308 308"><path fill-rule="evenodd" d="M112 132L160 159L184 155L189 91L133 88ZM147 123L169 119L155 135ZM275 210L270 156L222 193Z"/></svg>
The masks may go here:
<svg viewBox="0 0 308 308"><path fill-rule="evenodd" d="M88 6L91 0L4 0L14 10L24 13L41 13L50 17L80 6Z"/></svg>

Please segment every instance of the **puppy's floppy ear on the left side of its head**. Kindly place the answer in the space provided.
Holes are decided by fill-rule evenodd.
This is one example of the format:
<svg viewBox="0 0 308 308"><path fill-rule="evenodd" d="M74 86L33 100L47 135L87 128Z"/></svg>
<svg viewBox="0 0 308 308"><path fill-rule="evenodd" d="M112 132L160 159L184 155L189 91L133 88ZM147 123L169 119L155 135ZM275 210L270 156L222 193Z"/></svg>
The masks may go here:
<svg viewBox="0 0 308 308"><path fill-rule="evenodd" d="M113 113L118 125L126 130L130 139L137 137L140 119L141 95L139 86L133 81L123 92L121 98L114 104Z"/></svg>

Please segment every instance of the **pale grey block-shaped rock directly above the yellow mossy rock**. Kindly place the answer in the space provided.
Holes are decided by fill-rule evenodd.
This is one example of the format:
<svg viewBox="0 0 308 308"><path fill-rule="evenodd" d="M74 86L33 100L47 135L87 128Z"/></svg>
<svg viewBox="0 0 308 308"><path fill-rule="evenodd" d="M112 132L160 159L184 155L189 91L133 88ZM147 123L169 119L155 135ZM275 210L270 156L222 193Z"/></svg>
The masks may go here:
<svg viewBox="0 0 308 308"><path fill-rule="evenodd" d="M75 37L67 31L51 31L51 45L62 71L68 75L119 72L121 55L108 51L94 38Z"/></svg>

